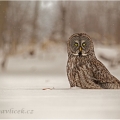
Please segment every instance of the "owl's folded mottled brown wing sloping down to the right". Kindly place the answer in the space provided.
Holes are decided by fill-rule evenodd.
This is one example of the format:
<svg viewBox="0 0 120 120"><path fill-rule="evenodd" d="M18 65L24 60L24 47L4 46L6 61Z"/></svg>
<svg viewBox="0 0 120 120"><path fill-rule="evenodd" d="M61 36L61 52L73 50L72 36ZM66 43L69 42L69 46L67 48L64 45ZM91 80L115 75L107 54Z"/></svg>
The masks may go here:
<svg viewBox="0 0 120 120"><path fill-rule="evenodd" d="M120 81L111 75L108 69L99 60L93 61L92 66L92 79L96 84L99 84L105 89L120 89Z"/></svg>

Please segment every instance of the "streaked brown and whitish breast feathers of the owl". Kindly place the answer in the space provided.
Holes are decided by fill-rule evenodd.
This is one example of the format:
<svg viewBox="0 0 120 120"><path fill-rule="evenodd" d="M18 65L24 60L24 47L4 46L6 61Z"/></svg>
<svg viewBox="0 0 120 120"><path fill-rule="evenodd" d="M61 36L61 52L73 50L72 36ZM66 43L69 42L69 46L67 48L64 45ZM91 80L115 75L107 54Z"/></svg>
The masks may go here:
<svg viewBox="0 0 120 120"><path fill-rule="evenodd" d="M85 58L84 58L85 59ZM80 57L75 57L73 55L69 56L67 63L67 75L71 87L81 87L83 89L101 89L101 86L96 84L91 76L93 74L86 66L86 61L80 59Z"/></svg>

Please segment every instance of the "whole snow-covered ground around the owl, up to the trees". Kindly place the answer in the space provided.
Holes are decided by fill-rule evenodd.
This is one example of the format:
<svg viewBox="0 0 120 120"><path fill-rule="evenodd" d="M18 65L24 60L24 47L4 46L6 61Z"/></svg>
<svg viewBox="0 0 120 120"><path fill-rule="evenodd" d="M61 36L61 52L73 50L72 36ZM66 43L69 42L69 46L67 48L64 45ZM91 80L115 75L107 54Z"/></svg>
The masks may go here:
<svg viewBox="0 0 120 120"><path fill-rule="evenodd" d="M116 51L96 47L97 56L115 57ZM64 48L25 56L10 57L7 70L0 71L0 118L120 118L120 90L69 88ZM120 79L120 66L112 69L102 62ZM13 113L22 109L31 113Z"/></svg>

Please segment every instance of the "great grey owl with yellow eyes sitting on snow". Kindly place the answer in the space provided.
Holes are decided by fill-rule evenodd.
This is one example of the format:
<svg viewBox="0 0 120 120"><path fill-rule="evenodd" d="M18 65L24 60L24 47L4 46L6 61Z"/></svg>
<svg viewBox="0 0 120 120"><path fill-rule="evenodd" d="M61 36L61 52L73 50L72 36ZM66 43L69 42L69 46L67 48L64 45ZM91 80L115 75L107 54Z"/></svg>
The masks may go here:
<svg viewBox="0 0 120 120"><path fill-rule="evenodd" d="M73 34L67 42L67 76L70 87L120 89L120 81L96 58L86 33Z"/></svg>

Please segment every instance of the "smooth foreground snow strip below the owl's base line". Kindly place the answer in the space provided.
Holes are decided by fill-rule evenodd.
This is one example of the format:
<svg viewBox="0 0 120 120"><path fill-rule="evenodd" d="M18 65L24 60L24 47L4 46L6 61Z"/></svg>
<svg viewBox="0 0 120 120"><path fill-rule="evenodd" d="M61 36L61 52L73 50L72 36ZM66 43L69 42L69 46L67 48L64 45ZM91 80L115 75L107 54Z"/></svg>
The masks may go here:
<svg viewBox="0 0 120 120"><path fill-rule="evenodd" d="M120 118L119 90L4 90L0 95L2 110L33 110L0 118Z"/></svg>

